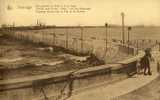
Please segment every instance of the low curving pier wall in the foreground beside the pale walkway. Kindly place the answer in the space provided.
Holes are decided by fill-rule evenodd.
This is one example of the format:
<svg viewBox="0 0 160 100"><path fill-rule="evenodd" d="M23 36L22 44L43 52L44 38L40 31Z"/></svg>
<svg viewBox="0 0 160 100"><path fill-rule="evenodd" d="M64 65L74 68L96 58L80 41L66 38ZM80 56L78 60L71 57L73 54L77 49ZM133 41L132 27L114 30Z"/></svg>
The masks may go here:
<svg viewBox="0 0 160 100"><path fill-rule="evenodd" d="M59 100L93 87L131 77L143 54L133 58L81 70L50 73L19 79L0 80L2 100ZM15 99L14 99L15 98Z"/></svg>

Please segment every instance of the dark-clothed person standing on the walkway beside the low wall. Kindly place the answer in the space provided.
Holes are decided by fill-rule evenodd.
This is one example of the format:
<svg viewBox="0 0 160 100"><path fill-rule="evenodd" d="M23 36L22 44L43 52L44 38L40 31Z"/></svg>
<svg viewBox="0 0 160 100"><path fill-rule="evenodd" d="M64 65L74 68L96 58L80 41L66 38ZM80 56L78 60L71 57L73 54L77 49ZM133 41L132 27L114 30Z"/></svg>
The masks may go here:
<svg viewBox="0 0 160 100"><path fill-rule="evenodd" d="M143 56L143 58L141 59L141 66L144 68L144 75L152 75L151 73L151 68L150 68L150 61L153 60L152 59L152 55L151 55L151 49L147 48L145 50L145 55ZM148 72L146 73L146 71L148 70Z"/></svg>

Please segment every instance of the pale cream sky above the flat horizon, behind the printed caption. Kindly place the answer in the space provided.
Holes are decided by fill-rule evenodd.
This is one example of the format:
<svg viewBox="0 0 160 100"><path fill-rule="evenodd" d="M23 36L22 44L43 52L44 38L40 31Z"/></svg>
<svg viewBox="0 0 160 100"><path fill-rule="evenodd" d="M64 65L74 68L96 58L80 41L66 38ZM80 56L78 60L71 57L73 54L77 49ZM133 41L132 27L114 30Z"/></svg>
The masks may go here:
<svg viewBox="0 0 160 100"><path fill-rule="evenodd" d="M89 8L84 13L37 13L37 5L74 5ZM27 8L28 7L28 8ZM35 25L160 25L160 0L0 0L0 24Z"/></svg>

